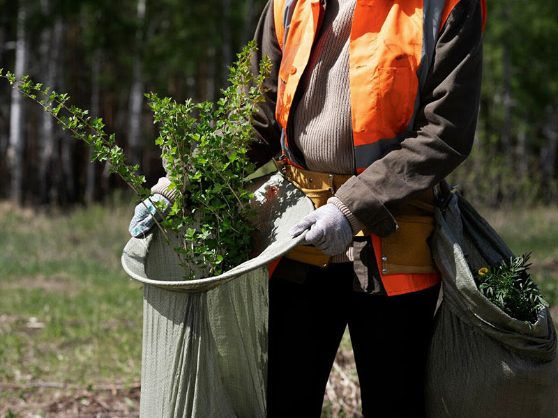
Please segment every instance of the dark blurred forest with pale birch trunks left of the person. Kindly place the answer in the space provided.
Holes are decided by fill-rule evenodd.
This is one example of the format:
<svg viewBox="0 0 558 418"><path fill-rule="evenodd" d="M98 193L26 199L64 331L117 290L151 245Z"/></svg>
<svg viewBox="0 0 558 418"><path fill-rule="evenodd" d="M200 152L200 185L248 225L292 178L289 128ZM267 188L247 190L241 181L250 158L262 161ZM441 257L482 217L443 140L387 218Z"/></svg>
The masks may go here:
<svg viewBox="0 0 558 418"><path fill-rule="evenodd" d="M144 93L214 100L253 36L261 0L0 0L0 68L30 75L100 116L148 183L164 175ZM89 164L52 116L0 83L0 198L103 199L119 180Z"/></svg>

